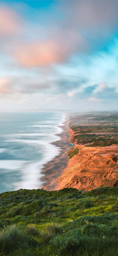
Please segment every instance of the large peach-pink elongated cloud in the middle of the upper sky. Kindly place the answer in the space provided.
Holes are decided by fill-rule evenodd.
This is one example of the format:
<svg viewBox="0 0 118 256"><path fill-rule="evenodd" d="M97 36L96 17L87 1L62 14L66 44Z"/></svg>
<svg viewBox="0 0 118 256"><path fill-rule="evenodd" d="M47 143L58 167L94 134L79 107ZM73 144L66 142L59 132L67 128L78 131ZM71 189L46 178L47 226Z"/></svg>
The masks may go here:
<svg viewBox="0 0 118 256"><path fill-rule="evenodd" d="M44 42L18 45L13 56L24 67L46 66L65 61L77 47L82 48L83 38L79 35L70 39L54 38Z"/></svg>

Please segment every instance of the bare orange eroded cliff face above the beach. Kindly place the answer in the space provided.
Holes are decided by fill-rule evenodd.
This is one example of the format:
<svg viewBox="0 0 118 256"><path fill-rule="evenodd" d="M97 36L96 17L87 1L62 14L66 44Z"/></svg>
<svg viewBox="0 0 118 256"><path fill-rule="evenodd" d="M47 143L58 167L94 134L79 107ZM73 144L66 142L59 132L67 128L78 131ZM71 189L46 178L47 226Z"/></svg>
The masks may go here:
<svg viewBox="0 0 118 256"><path fill-rule="evenodd" d="M72 139L73 132L70 130ZM69 161L59 177L59 187L73 187L85 191L118 186L118 145L108 147L85 147L75 145L78 153Z"/></svg>

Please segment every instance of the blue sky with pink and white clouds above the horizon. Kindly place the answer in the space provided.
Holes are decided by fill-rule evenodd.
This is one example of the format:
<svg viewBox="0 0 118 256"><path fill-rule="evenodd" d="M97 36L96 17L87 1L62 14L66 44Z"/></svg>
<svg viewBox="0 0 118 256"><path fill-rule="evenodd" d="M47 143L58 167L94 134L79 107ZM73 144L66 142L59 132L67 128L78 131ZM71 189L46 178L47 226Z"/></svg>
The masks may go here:
<svg viewBox="0 0 118 256"><path fill-rule="evenodd" d="M118 110L118 1L0 1L0 111Z"/></svg>

